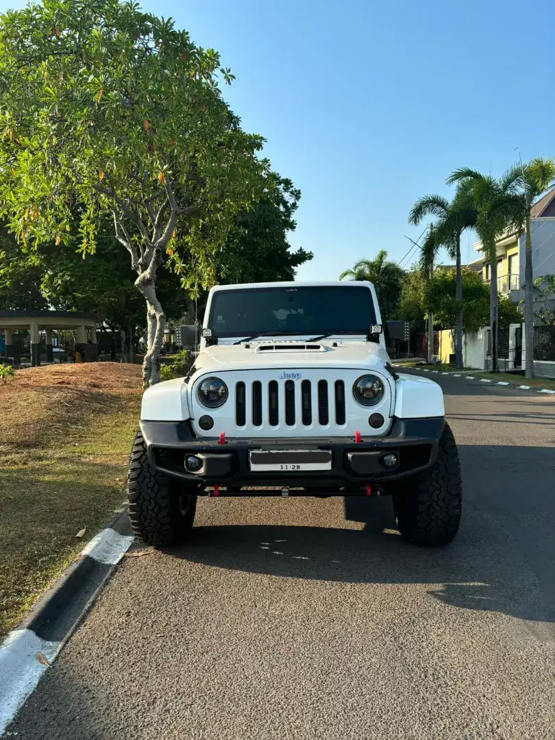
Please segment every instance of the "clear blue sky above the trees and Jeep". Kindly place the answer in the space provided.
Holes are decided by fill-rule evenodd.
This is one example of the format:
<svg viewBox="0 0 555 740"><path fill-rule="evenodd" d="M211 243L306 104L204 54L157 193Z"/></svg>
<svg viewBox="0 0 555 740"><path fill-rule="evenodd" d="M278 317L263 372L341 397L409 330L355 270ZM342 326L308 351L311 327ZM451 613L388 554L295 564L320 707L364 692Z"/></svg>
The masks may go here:
<svg viewBox="0 0 555 740"><path fill-rule="evenodd" d="M408 209L448 194L457 166L499 175L519 154L555 155L553 0L142 5L232 67L226 99L303 193L291 241L314 260L300 279L336 279L382 248L402 260L422 231ZM462 247L473 258L471 235Z"/></svg>

